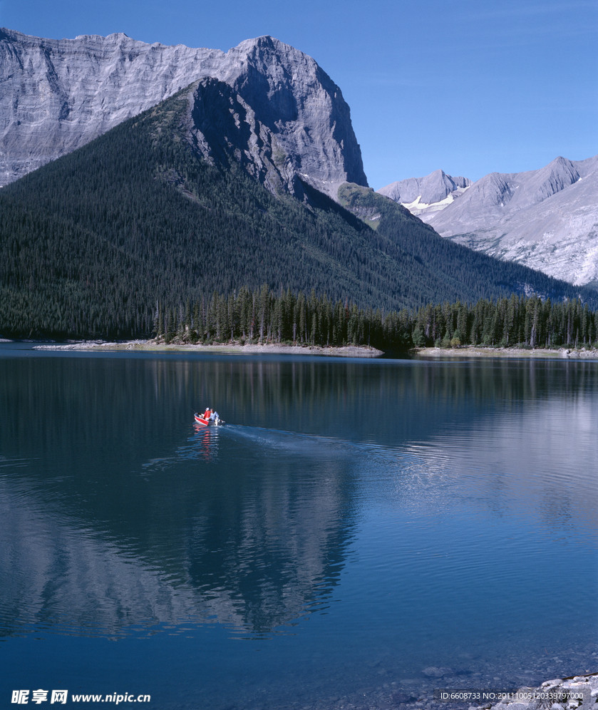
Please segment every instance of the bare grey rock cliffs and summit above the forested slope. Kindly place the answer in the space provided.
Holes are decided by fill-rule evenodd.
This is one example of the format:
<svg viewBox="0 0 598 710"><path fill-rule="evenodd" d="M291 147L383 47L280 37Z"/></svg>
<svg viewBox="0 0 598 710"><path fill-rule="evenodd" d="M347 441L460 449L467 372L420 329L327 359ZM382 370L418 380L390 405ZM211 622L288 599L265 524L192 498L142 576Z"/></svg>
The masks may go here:
<svg viewBox="0 0 598 710"><path fill-rule="evenodd" d="M195 140L205 157L237 151L274 191L294 192L298 175L330 195L346 180L367 185L341 90L311 57L272 37L225 53L125 34L53 40L8 29L0 30L0 185L196 81Z"/></svg>

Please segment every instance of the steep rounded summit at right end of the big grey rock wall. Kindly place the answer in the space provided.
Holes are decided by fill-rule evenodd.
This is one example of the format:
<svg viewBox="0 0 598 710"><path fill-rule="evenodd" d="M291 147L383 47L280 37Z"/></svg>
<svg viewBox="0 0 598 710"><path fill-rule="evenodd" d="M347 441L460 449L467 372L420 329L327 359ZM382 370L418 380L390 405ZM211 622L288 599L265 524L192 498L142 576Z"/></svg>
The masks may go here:
<svg viewBox="0 0 598 710"><path fill-rule="evenodd" d="M217 78L232 86L268 131L277 162L287 165L289 189L291 175L335 199L343 182L367 185L349 106L313 58L271 36L245 40L227 57Z"/></svg>

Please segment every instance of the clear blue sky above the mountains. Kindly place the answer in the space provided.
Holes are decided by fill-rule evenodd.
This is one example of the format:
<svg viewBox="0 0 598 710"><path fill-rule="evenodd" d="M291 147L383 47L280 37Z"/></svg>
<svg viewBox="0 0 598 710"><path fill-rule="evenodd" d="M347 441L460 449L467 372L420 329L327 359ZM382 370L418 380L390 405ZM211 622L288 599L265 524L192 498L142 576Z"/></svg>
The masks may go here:
<svg viewBox="0 0 598 710"><path fill-rule="evenodd" d="M0 0L0 26L225 51L275 36L341 87L376 189L598 153L598 0Z"/></svg>

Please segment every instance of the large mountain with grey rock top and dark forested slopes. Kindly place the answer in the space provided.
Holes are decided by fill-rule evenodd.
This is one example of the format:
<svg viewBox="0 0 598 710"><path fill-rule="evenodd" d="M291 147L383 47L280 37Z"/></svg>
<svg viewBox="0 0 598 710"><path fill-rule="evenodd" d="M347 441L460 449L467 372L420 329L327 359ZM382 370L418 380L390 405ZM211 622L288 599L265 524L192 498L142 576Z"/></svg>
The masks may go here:
<svg viewBox="0 0 598 710"><path fill-rule="evenodd" d="M341 312L512 292L596 302L370 190L340 89L272 37L227 53L123 34L0 44L4 335L148 336L159 312L180 322L263 284Z"/></svg>

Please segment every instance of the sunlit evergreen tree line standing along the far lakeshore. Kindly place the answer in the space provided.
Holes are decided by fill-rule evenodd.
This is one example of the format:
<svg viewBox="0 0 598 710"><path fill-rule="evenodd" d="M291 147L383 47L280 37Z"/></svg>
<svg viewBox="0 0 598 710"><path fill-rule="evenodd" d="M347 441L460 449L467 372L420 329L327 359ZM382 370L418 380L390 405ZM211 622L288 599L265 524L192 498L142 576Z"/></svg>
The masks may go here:
<svg viewBox="0 0 598 710"><path fill-rule="evenodd" d="M413 346L594 346L597 313L578 299L551 302L513 294L474 306L428 304L417 311L382 312L348 299L333 301L312 290L274 293L242 287L229 295L214 292L177 307L158 302L155 334L166 342L242 344L361 345L384 351Z"/></svg>

